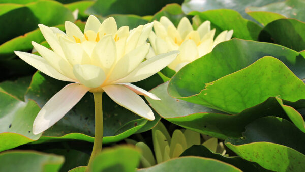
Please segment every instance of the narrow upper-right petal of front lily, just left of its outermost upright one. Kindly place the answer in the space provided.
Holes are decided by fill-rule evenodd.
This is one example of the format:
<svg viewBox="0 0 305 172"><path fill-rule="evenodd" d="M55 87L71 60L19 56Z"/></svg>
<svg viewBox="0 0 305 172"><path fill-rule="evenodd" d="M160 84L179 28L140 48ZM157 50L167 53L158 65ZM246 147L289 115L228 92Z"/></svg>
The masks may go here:
<svg viewBox="0 0 305 172"><path fill-rule="evenodd" d="M130 31L129 33L130 35L126 40L125 54L136 48L142 30L143 30L143 25L139 25L137 28L134 28L132 31Z"/></svg>

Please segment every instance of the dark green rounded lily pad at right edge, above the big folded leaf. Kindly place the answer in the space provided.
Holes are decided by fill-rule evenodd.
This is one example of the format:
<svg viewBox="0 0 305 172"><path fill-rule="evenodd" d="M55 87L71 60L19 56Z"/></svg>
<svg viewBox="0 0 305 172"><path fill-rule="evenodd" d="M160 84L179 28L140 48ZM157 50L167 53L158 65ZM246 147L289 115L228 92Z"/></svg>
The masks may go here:
<svg viewBox="0 0 305 172"><path fill-rule="evenodd" d="M279 19L265 26L259 35L259 40L302 51L305 49L304 30L304 22L296 19Z"/></svg>

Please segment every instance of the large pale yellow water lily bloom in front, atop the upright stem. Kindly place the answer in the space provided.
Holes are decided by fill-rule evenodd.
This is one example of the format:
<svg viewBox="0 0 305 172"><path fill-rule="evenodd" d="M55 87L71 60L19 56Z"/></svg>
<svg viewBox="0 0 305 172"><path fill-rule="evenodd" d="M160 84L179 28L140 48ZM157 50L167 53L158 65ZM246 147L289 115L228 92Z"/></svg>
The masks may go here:
<svg viewBox="0 0 305 172"><path fill-rule="evenodd" d="M101 24L89 16L84 33L66 21L66 33L39 24L52 50L32 42L42 56L15 51L22 60L55 79L74 82L56 93L40 110L33 133L39 134L65 116L86 92L106 92L117 104L148 120L154 113L139 95L159 99L130 82L154 75L171 63L178 51L154 56L143 62L150 44L146 43L153 23L129 31L117 29L113 17ZM139 95L138 95L139 94Z"/></svg>

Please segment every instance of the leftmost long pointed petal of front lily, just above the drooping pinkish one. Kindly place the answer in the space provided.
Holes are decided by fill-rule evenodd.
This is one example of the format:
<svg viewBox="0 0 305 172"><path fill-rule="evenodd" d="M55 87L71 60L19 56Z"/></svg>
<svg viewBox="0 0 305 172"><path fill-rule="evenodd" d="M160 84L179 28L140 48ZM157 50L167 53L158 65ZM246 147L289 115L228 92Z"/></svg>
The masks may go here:
<svg viewBox="0 0 305 172"><path fill-rule="evenodd" d="M40 70L44 74L58 79L58 80L63 80L63 81L68 81L68 82L75 82L75 80L70 79L63 74L59 73L56 71L49 63L43 59L41 56L34 55L31 53L26 53L26 52L19 52L15 51L15 54L19 56L22 60L24 60L26 63L32 65L34 68Z"/></svg>

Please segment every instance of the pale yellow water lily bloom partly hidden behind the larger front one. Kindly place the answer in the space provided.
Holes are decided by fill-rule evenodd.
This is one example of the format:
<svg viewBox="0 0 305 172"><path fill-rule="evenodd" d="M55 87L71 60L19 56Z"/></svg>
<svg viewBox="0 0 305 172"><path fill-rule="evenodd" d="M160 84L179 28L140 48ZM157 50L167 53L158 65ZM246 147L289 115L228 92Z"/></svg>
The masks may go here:
<svg viewBox="0 0 305 172"><path fill-rule="evenodd" d="M183 17L178 27L165 16L159 21L154 21L155 33L151 32L149 41L153 47L147 59L155 54L179 50L178 57L168 65L176 72L188 63L209 53L220 42L230 40L233 30L223 31L214 40L215 29L210 30L210 21L203 22L195 31L186 17Z"/></svg>

